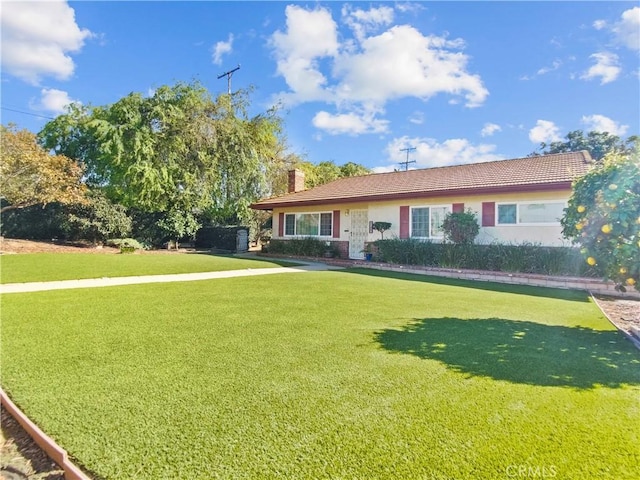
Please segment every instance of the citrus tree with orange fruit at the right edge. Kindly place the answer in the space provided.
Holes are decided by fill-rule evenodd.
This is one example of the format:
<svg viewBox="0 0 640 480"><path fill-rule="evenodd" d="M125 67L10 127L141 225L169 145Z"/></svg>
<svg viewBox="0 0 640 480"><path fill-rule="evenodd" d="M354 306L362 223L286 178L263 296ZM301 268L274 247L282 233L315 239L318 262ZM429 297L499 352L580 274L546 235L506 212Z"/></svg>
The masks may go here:
<svg viewBox="0 0 640 480"><path fill-rule="evenodd" d="M573 186L562 232L604 276L640 289L640 153L610 153Z"/></svg>

